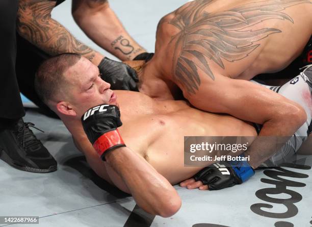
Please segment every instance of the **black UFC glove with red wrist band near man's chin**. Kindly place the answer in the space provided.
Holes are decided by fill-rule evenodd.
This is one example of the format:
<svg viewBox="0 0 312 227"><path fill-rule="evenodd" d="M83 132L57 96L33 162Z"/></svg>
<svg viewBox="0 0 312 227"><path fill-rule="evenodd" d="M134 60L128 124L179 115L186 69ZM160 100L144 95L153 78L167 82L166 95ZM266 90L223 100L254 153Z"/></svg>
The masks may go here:
<svg viewBox="0 0 312 227"><path fill-rule="evenodd" d="M114 105L100 105L89 109L81 117L84 131L99 157L125 146L117 128L122 125L120 111Z"/></svg>

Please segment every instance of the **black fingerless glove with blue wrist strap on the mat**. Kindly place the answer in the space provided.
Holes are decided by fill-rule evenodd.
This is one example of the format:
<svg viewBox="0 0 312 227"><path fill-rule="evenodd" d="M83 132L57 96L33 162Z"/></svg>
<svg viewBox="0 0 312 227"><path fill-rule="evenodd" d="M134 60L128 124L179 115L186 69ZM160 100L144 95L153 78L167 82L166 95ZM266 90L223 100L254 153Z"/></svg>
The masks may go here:
<svg viewBox="0 0 312 227"><path fill-rule="evenodd" d="M254 170L247 161L222 161L203 168L193 178L208 185L209 190L220 190L242 184L253 175Z"/></svg>

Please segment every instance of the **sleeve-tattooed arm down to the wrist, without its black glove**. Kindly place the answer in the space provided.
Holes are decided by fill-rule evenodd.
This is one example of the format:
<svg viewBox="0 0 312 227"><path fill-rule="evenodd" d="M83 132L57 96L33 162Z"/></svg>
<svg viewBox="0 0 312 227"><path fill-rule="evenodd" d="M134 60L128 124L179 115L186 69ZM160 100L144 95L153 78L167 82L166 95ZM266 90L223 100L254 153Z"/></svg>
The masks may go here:
<svg viewBox="0 0 312 227"><path fill-rule="evenodd" d="M98 65L103 56L75 39L58 21L50 17L55 4L53 1L20 0L18 33L51 56L76 53Z"/></svg>

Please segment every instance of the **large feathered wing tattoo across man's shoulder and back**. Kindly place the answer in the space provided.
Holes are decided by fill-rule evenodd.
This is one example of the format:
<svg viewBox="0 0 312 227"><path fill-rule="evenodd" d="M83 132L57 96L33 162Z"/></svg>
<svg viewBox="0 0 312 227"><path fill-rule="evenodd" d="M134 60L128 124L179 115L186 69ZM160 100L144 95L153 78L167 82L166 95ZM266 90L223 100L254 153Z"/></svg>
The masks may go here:
<svg viewBox="0 0 312 227"><path fill-rule="evenodd" d="M206 58L224 69L223 59L233 62L246 58L260 44L255 42L281 31L275 28L252 30L268 19L293 19L281 12L285 8L310 3L309 0L269 0L245 4L227 11L204 11L213 0L197 0L176 10L170 24L180 30L176 39L172 74L189 93L200 86L198 68L214 80Z"/></svg>

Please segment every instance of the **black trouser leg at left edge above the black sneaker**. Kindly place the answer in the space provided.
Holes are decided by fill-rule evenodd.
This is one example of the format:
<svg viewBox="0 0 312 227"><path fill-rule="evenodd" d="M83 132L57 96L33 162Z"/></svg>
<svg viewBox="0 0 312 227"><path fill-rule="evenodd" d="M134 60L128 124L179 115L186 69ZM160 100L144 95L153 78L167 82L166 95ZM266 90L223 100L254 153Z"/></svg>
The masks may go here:
<svg viewBox="0 0 312 227"><path fill-rule="evenodd" d="M15 75L17 7L18 0L0 1L0 118L25 115Z"/></svg>

